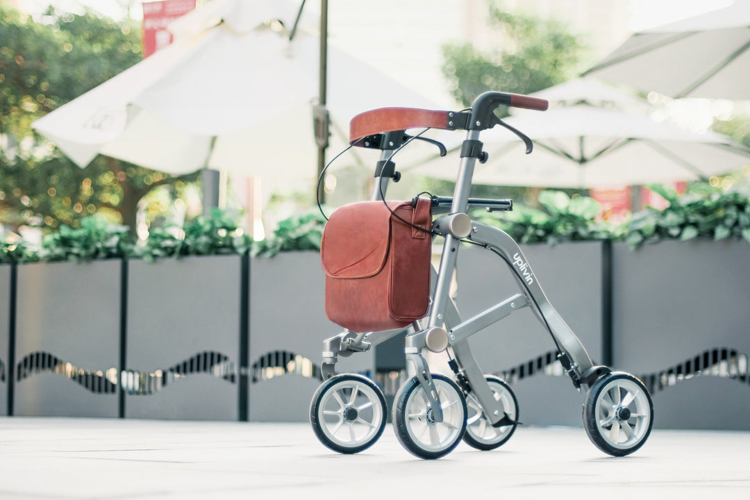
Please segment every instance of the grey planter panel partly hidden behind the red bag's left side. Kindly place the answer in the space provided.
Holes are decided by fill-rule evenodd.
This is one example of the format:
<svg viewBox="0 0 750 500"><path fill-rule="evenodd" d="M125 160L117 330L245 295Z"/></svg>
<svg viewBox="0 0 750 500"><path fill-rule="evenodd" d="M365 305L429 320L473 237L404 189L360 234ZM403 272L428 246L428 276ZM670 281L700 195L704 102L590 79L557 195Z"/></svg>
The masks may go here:
<svg viewBox="0 0 750 500"><path fill-rule="evenodd" d="M250 278L250 420L308 421L323 340L341 331L326 318L320 254L251 259ZM337 371L373 374L373 350L340 358Z"/></svg>

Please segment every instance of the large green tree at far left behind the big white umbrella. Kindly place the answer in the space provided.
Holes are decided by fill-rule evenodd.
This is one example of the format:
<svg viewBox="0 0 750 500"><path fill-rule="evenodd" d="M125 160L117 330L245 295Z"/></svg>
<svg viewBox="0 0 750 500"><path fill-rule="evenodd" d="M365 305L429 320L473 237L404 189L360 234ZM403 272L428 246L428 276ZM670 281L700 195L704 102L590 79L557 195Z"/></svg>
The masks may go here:
<svg viewBox="0 0 750 500"><path fill-rule="evenodd" d="M101 156L80 169L31 130L40 116L141 57L133 21L52 7L31 19L0 5L0 223L77 227L83 217L101 214L133 230L136 204L145 193L194 180Z"/></svg>

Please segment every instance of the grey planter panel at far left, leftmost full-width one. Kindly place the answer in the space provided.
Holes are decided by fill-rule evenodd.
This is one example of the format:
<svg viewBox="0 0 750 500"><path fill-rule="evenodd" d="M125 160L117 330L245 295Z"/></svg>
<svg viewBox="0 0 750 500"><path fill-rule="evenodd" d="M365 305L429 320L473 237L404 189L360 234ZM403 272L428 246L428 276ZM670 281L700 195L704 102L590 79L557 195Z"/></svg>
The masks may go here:
<svg viewBox="0 0 750 500"><path fill-rule="evenodd" d="M14 415L118 416L121 261L17 272Z"/></svg>

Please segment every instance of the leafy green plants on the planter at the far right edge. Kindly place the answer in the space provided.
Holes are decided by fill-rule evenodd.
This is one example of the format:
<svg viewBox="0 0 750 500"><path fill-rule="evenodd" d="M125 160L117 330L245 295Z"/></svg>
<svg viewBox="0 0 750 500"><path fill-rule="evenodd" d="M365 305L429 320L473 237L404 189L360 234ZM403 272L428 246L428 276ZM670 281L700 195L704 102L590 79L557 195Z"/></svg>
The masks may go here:
<svg viewBox="0 0 750 500"><path fill-rule="evenodd" d="M744 238L750 243L750 200L739 191L721 191L692 184L680 196L670 187L649 186L669 202L664 210L647 207L633 214L625 241L631 249L662 239L723 240Z"/></svg>

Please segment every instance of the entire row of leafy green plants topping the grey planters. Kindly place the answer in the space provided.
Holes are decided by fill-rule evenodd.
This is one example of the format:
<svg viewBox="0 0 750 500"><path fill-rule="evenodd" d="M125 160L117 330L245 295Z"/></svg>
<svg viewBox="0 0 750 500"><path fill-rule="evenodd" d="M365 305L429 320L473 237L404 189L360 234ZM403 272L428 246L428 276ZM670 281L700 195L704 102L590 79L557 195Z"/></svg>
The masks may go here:
<svg viewBox="0 0 750 500"><path fill-rule="evenodd" d="M702 183L691 184L682 196L664 186L649 189L664 197L669 206L664 210L646 208L626 223L598 220L601 206L594 199L556 190L539 193L541 210L516 205L513 211L476 211L473 216L498 226L522 244L611 240L625 241L634 250L662 239L744 238L750 243L750 199L745 193L721 191ZM149 262L188 255L272 257L281 252L320 250L325 226L323 215L311 211L282 220L270 238L254 242L239 227L236 214L215 209L210 217L196 217L181 227L154 228L145 242L136 245L127 226L87 217L78 229L61 226L46 235L39 250L17 235L0 242L0 264L125 256Z"/></svg>

